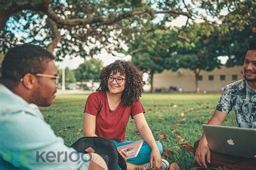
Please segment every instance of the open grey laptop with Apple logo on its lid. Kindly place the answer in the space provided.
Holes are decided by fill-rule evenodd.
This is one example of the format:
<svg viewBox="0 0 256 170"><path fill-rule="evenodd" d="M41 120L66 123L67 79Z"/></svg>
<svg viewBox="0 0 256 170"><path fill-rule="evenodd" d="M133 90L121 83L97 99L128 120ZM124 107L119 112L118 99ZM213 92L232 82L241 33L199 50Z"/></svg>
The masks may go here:
<svg viewBox="0 0 256 170"><path fill-rule="evenodd" d="M253 158L256 130L250 128L202 125L211 151Z"/></svg>

